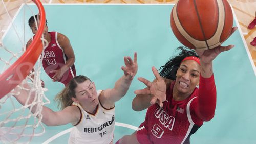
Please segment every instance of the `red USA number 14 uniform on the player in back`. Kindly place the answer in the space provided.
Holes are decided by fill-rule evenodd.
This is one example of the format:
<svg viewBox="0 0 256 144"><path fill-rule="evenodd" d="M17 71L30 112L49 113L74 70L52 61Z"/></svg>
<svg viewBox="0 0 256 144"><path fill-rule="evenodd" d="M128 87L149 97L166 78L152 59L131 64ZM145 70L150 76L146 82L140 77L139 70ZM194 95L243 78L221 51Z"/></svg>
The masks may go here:
<svg viewBox="0 0 256 144"><path fill-rule="evenodd" d="M68 57L65 55L63 49L58 43L58 33L49 32L51 35L51 41L45 49L44 57L42 59L42 66L44 67L47 75L52 78L55 73L51 73L52 70L60 69L65 65ZM59 82L67 85L69 81L76 76L75 65L72 65L69 70L67 70Z"/></svg>

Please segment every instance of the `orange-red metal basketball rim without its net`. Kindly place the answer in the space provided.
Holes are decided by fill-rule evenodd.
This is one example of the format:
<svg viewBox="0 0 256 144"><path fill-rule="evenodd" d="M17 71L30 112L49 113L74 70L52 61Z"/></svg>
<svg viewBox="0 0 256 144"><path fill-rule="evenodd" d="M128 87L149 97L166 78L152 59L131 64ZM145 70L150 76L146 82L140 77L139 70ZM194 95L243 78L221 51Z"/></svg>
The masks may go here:
<svg viewBox="0 0 256 144"><path fill-rule="evenodd" d="M42 52L42 41L40 38L46 23L45 9L39 0L33 0L33 2L37 5L40 14L38 31L27 51L4 73L0 74L0 99L26 78Z"/></svg>

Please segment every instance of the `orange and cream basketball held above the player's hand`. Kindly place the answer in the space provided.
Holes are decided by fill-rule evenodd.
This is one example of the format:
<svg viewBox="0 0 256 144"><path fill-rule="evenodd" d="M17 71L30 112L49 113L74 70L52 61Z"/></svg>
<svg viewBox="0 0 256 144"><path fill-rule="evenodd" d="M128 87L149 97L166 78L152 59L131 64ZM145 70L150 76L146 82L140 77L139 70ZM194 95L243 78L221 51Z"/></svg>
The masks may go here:
<svg viewBox="0 0 256 144"><path fill-rule="evenodd" d="M190 49L213 49L229 37L233 14L226 0L182 0L173 7L170 26Z"/></svg>

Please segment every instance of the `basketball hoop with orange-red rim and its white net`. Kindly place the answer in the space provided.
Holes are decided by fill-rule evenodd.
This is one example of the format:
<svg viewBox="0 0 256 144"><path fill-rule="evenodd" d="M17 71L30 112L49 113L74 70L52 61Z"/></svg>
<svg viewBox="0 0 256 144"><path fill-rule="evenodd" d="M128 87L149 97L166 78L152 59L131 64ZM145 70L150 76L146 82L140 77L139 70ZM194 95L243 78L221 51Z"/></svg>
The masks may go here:
<svg viewBox="0 0 256 144"><path fill-rule="evenodd" d="M27 9L25 8L29 8L30 16L35 14L27 5L26 1L24 0L23 2L25 4L21 8L24 9L24 26L22 27L20 23L17 24L17 21L11 21L12 27L9 28L12 28L15 33L9 30L11 31L10 39L0 38L0 62L2 62L0 63L0 67L2 68L2 71L0 71L0 143L29 143L34 136L44 134L45 127L41 123L41 111L45 104L50 103L45 97L45 89L41 87L40 70L42 58L40 60L38 59L39 56L42 56L41 53L44 52L44 47L48 45L48 42L42 35L46 25L45 10L39 0L33 0L39 11L39 25L35 22L37 33L33 37L32 43L25 51L25 23L27 23L25 22L27 21L25 20L25 12L27 12L25 10ZM2 3L5 9L2 9L2 5L0 5L1 10L5 10L9 19L12 19L9 14L11 10L7 9L9 1L5 3L4 0L2 0ZM38 14L38 12L36 12L36 14ZM37 20L35 19L35 21ZM23 29L24 32L17 31L16 29ZM2 28L1 32L3 32ZM20 33L22 33L23 36L20 36ZM18 37L22 46L17 46L20 43L15 43L15 36ZM24 41L22 41L23 38ZM20 48L22 48L21 51L16 50ZM34 68L33 72L31 72L32 68ZM29 85L30 89L23 87L24 83ZM12 89L16 86L18 87L17 93L15 93L16 97L21 98L23 96L19 95L21 90L27 92L28 99L26 99L27 102L24 106L21 106L17 100L12 97L14 94L12 93ZM30 98L33 98L32 103L28 102ZM33 107L36 107L34 113L31 112Z"/></svg>

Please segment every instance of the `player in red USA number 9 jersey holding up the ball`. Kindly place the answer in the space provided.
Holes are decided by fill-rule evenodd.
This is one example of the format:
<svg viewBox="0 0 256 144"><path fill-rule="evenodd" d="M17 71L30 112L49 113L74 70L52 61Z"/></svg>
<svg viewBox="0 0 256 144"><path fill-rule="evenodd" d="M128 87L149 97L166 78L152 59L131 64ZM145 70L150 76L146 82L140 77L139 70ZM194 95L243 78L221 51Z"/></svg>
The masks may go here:
<svg viewBox="0 0 256 144"><path fill-rule="evenodd" d="M138 78L147 87L135 91L132 107L135 111L148 108L145 121L135 133L116 143L190 143L190 136L204 121L214 117L216 86L212 61L232 47L195 50L196 53L179 47L179 55L162 66L160 74L152 67L156 77L153 82Z"/></svg>

